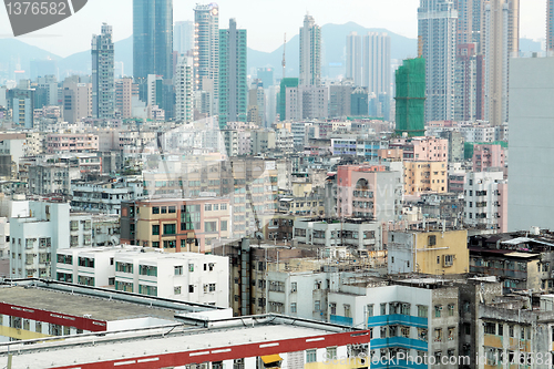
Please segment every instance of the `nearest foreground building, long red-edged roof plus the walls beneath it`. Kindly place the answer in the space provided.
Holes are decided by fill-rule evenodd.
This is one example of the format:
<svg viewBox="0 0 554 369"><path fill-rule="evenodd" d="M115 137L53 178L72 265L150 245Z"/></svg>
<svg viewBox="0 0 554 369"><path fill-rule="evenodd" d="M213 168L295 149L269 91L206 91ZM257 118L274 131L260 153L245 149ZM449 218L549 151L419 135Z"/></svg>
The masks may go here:
<svg viewBox="0 0 554 369"><path fill-rule="evenodd" d="M209 318L203 312L178 314L182 321L163 327L102 331L58 341L45 338L27 346L22 342L17 346L14 369L75 366L317 369L332 363L329 357L343 359L347 363L340 368L345 369L367 365L362 357L367 357L370 337L363 329L279 315Z"/></svg>

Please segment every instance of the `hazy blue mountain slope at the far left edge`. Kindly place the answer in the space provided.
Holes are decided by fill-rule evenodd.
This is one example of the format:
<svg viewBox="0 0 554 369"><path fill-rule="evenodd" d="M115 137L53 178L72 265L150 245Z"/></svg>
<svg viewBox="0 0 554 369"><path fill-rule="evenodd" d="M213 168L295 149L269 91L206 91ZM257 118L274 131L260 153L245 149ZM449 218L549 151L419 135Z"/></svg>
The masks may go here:
<svg viewBox="0 0 554 369"><path fill-rule="evenodd" d="M31 70L30 62L33 59L61 59L57 54L27 44L18 39L0 39L0 75L2 71L13 72L14 70L24 70L29 73ZM11 75L6 76L13 78Z"/></svg>

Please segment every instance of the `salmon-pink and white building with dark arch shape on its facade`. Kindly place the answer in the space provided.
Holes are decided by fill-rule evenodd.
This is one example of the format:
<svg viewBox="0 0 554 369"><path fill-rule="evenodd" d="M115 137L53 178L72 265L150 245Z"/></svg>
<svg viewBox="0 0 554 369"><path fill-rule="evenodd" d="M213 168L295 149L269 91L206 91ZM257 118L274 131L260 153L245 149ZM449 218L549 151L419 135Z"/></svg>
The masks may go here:
<svg viewBox="0 0 554 369"><path fill-rule="evenodd" d="M396 221L401 213L402 173L383 165L340 165L337 171L339 217Z"/></svg>

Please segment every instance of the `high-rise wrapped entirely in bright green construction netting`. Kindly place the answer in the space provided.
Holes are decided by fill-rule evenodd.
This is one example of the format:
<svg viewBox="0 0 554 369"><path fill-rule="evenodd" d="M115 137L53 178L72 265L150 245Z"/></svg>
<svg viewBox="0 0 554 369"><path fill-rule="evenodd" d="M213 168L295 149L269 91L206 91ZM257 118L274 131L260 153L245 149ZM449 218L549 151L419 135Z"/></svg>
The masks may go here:
<svg viewBox="0 0 554 369"><path fill-rule="evenodd" d="M397 70L397 134L425 135L425 60L407 59Z"/></svg>

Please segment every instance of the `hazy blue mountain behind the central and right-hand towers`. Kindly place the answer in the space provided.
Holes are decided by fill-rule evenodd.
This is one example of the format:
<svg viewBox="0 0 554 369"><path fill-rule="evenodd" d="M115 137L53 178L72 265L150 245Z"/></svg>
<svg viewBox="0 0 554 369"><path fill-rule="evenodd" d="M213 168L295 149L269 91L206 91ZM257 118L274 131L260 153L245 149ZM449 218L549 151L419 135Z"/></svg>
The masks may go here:
<svg viewBox="0 0 554 369"><path fill-rule="evenodd" d="M418 40L390 32L381 28L365 28L353 22L346 24L325 24L321 27L322 43L322 75L336 78L345 73L346 64L346 38L350 32L366 34L368 32L387 32L390 35L391 58L406 59L413 58L418 51ZM287 75L298 75L298 34L287 41ZM248 71L252 73L256 68L273 66L275 78L280 79L283 74L283 45L273 52L263 52L248 49Z"/></svg>

